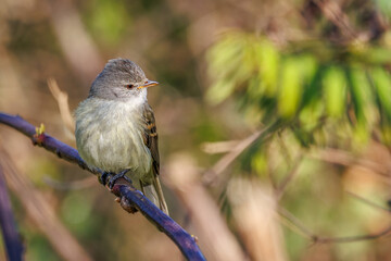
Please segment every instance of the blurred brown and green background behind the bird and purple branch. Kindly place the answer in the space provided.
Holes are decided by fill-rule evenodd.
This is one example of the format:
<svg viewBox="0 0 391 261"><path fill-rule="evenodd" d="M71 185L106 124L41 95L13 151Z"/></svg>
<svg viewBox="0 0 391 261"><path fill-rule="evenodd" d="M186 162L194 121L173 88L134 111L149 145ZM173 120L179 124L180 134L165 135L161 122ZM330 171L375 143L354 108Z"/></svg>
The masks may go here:
<svg viewBox="0 0 391 261"><path fill-rule="evenodd" d="M207 260L391 260L390 17L388 0L2 0L0 111L75 147L73 111L130 59L161 83L168 208ZM5 126L0 159L26 260L184 259Z"/></svg>

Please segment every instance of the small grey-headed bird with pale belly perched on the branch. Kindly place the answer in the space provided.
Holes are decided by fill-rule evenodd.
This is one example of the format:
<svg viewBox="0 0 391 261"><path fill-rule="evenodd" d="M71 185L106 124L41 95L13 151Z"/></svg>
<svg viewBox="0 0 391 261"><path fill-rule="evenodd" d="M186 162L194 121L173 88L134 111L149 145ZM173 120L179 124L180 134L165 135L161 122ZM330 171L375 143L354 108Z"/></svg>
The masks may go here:
<svg viewBox="0 0 391 261"><path fill-rule="evenodd" d="M154 85L133 61L110 60L76 109L75 136L83 160L112 175L109 186L119 177L130 178L168 214L159 181L155 119L147 100L147 87Z"/></svg>

